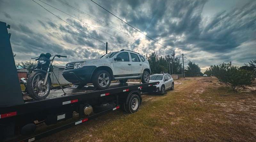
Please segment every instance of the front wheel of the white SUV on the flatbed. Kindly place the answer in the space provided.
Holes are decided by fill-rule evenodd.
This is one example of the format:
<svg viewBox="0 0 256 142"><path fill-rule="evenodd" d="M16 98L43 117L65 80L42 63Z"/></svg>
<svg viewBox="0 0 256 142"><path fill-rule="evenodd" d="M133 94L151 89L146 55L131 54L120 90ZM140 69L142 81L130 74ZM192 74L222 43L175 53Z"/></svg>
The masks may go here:
<svg viewBox="0 0 256 142"><path fill-rule="evenodd" d="M103 90L108 88L111 83L111 76L108 71L100 70L92 76L92 84L94 87Z"/></svg>

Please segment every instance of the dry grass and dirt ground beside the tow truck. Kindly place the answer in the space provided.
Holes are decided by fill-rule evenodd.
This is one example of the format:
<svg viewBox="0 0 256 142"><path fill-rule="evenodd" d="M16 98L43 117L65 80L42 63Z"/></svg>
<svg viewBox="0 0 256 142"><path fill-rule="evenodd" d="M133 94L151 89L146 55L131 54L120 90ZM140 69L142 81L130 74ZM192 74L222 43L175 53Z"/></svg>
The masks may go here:
<svg viewBox="0 0 256 142"><path fill-rule="evenodd" d="M113 111L40 141L256 140L255 90L233 92L216 78L186 78L175 81L174 91L142 98L137 113Z"/></svg>

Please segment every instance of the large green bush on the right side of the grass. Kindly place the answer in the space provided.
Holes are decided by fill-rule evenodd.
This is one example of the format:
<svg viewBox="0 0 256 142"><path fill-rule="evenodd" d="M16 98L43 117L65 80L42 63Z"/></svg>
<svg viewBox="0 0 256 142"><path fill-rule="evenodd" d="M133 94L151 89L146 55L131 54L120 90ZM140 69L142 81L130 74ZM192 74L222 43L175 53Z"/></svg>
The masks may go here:
<svg viewBox="0 0 256 142"><path fill-rule="evenodd" d="M205 73L217 77L221 82L225 83L233 90L251 85L254 80L252 71L240 69L237 66L222 63L220 65L211 65Z"/></svg>

